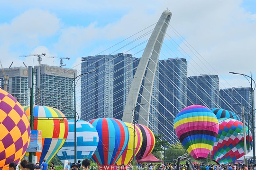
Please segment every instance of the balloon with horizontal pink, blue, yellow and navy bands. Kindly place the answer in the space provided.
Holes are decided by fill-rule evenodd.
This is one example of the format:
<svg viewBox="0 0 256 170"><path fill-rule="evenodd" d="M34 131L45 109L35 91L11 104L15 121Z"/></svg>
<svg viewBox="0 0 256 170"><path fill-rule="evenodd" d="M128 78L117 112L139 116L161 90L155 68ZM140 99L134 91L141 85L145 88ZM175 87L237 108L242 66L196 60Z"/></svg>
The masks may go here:
<svg viewBox="0 0 256 170"><path fill-rule="evenodd" d="M210 109L191 105L177 114L174 128L184 148L198 160L210 153L218 135L219 123Z"/></svg>

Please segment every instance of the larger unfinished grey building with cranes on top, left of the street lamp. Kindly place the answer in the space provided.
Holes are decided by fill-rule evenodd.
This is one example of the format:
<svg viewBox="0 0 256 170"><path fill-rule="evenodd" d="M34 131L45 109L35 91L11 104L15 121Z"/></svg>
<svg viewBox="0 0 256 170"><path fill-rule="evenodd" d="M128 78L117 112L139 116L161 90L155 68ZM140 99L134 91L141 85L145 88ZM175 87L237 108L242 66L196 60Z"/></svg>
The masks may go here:
<svg viewBox="0 0 256 170"><path fill-rule="evenodd" d="M71 117L74 108L72 81L76 70L42 64L35 66L34 72L35 105L50 106Z"/></svg>

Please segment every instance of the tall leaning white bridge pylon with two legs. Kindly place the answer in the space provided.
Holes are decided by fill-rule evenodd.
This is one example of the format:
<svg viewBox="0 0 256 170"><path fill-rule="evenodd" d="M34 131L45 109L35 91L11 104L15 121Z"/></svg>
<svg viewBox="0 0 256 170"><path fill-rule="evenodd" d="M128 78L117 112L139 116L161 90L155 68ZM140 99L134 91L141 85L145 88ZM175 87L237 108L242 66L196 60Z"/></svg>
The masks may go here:
<svg viewBox="0 0 256 170"><path fill-rule="evenodd" d="M144 86L143 86L143 92L142 92L142 98L141 98L141 105L139 110L139 119L138 123L146 125L148 127L148 120L149 120L149 110L150 110L150 101L151 101L151 95L152 95L152 89L155 79L155 71L158 63L159 54L161 51L162 43L165 38L165 33L167 30L167 27L169 25L170 19L172 17L172 13L170 10L165 10L160 19L158 20L153 33L151 34L147 44L146 48L142 54L142 57L140 58L136 73L134 75L122 121L124 122L133 122L133 116L132 110L137 105L137 98L140 90L140 86L143 80L143 77L146 76L144 79ZM146 71L147 67L147 71ZM145 74L146 72L146 74Z"/></svg>

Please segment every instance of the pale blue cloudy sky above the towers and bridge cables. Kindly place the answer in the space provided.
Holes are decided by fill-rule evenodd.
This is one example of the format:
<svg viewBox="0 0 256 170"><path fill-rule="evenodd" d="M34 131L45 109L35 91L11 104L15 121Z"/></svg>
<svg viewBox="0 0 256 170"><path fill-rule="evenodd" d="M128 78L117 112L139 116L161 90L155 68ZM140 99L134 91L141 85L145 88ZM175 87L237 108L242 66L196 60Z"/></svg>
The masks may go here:
<svg viewBox="0 0 256 170"><path fill-rule="evenodd" d="M193 61L207 62L220 76L221 88L250 86L230 71L252 72L256 80L256 0L2 0L0 59L4 68L12 61L12 67L37 65L37 57L19 56L46 53L69 57L65 67L81 69L81 57L97 55L156 23L166 8L171 26L201 56ZM59 66L54 58L42 63Z"/></svg>

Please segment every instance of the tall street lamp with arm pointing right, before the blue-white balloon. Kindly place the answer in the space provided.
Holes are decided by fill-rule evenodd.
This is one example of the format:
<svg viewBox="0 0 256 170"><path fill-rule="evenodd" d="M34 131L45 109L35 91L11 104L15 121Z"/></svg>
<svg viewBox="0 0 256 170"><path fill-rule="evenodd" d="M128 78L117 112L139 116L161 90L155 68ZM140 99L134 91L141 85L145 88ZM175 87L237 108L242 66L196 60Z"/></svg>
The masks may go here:
<svg viewBox="0 0 256 170"><path fill-rule="evenodd" d="M75 100L75 86L76 86L76 83L75 83L75 79L76 78L80 78L81 76L85 75L85 74L89 74L89 73L93 73L93 72L96 72L96 71L90 71L90 72L87 72L87 73L83 73L79 76L76 76L75 73L74 73L74 78L72 80L72 83L71 83L71 88L74 92L74 162L76 162L76 100ZM73 89L73 83L74 83L74 89Z"/></svg>

